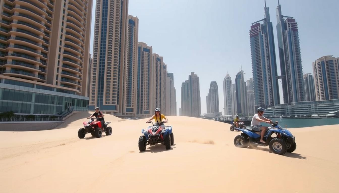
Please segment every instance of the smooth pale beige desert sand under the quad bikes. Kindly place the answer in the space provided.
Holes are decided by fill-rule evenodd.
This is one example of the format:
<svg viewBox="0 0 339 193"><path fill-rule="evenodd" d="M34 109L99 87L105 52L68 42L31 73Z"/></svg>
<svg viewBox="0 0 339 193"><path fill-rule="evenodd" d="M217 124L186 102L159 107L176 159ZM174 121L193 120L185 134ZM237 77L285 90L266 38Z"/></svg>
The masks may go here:
<svg viewBox="0 0 339 193"><path fill-rule="evenodd" d="M138 139L146 119L112 121L111 136L77 136L88 113L53 130L0 132L0 192L339 192L338 125L294 128L297 149L237 148L227 123L168 116L172 149Z"/></svg>

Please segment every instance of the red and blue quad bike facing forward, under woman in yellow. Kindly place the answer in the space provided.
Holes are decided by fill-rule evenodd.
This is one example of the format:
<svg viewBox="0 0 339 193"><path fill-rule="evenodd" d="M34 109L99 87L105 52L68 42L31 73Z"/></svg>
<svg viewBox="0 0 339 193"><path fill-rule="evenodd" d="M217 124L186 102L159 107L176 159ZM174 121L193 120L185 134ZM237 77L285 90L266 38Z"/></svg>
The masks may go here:
<svg viewBox="0 0 339 193"><path fill-rule="evenodd" d="M147 129L141 130L144 135L139 137L139 150L145 151L146 145L155 145L157 143L165 145L166 149L171 149L174 144L172 126L165 126L164 129L159 126L162 123L167 123L167 121L154 124L152 121L147 123L152 123L153 126L148 126Z"/></svg>

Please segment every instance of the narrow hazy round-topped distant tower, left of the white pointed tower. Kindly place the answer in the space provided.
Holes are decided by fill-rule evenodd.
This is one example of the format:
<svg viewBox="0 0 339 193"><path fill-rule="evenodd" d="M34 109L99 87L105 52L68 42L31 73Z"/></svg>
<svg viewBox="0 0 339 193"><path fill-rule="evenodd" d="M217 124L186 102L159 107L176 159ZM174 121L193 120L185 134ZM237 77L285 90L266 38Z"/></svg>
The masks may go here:
<svg viewBox="0 0 339 193"><path fill-rule="evenodd" d="M219 113L219 91L216 81L212 81L207 95L207 113ZM208 108L209 107L209 108Z"/></svg>

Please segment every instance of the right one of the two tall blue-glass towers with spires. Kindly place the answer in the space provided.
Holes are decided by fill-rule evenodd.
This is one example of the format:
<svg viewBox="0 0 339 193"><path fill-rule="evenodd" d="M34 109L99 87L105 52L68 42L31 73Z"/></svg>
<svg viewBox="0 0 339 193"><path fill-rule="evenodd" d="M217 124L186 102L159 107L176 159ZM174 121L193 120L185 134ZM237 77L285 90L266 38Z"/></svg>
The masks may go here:
<svg viewBox="0 0 339 193"><path fill-rule="evenodd" d="M277 23L284 103L305 101L298 24L293 17L281 14L279 1Z"/></svg>

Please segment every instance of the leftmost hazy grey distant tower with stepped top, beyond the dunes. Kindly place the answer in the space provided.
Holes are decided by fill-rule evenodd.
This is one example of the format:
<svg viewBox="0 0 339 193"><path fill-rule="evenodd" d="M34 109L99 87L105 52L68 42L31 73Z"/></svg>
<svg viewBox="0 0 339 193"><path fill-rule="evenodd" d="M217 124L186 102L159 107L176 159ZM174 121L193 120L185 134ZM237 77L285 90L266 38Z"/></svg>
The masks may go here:
<svg viewBox="0 0 339 193"><path fill-rule="evenodd" d="M191 72L188 80L181 85L181 115L200 117L200 84L199 77Z"/></svg>

